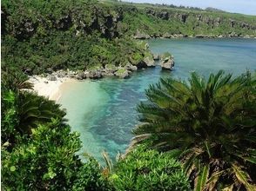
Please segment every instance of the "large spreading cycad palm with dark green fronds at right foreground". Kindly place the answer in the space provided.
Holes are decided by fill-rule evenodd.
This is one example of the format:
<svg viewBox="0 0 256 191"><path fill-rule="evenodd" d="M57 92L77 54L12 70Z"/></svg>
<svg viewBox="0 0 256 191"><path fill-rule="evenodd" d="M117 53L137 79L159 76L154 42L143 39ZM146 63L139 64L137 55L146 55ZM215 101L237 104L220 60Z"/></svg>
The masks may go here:
<svg viewBox="0 0 256 191"><path fill-rule="evenodd" d="M248 72L161 79L138 105L134 142L178 155L195 190L256 190L255 89Z"/></svg>

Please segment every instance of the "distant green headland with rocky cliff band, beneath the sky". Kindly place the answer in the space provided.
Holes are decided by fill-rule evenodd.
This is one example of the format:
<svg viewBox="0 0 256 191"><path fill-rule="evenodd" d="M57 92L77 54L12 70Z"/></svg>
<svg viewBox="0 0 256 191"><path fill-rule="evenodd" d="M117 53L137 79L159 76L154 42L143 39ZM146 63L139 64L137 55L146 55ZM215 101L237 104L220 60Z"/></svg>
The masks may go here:
<svg viewBox="0 0 256 191"><path fill-rule="evenodd" d="M175 7L148 3L103 1L123 7L123 27L128 34L151 37L177 36L256 36L256 16L233 14L212 8Z"/></svg>

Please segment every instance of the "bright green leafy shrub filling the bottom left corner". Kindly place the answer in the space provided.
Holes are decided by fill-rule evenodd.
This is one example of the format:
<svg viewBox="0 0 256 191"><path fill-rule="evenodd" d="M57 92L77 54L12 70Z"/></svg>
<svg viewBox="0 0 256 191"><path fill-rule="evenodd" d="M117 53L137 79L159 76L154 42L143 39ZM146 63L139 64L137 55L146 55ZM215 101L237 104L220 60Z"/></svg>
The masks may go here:
<svg viewBox="0 0 256 191"><path fill-rule="evenodd" d="M8 143L5 143L8 146ZM32 135L8 151L2 146L5 190L107 190L98 162L83 163L75 153L79 135L57 121L39 125Z"/></svg>

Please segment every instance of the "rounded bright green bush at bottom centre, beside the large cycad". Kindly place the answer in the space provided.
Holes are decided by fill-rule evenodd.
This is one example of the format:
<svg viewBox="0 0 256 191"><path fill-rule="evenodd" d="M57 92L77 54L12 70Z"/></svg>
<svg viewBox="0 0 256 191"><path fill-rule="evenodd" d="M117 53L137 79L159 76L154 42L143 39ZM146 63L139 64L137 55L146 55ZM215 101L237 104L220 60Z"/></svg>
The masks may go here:
<svg viewBox="0 0 256 191"><path fill-rule="evenodd" d="M110 180L116 190L190 190L178 161L144 146L118 161Z"/></svg>

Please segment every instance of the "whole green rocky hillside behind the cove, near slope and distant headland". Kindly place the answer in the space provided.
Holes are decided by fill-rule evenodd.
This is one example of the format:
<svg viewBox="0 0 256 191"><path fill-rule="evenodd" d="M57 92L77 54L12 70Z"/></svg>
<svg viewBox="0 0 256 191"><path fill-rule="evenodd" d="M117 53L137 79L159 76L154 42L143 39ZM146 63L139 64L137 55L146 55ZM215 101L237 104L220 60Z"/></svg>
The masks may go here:
<svg viewBox="0 0 256 191"><path fill-rule="evenodd" d="M256 36L256 16L151 4L3 0L2 69L57 69L141 63L149 37Z"/></svg>

